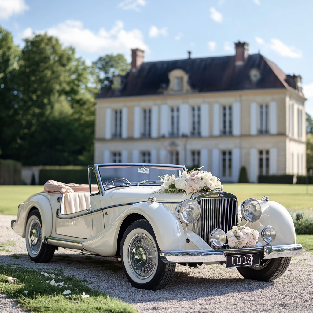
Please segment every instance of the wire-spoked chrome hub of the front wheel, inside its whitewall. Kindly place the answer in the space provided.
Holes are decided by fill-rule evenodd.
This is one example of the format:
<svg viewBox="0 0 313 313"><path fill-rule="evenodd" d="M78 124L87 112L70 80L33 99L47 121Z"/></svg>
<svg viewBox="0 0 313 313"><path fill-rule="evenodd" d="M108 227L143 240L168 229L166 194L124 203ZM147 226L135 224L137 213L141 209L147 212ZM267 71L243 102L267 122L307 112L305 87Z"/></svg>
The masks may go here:
<svg viewBox="0 0 313 313"><path fill-rule="evenodd" d="M152 274L156 267L156 250L149 237L138 234L131 239L128 262L138 278L144 279Z"/></svg>

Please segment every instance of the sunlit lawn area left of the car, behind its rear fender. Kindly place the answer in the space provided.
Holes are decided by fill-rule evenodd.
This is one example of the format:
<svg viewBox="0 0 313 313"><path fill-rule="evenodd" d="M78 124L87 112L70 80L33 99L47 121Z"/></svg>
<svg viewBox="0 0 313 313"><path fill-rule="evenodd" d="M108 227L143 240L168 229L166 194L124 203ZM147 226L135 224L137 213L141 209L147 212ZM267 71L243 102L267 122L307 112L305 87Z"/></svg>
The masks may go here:
<svg viewBox="0 0 313 313"><path fill-rule="evenodd" d="M34 193L44 190L43 186L1 185L0 214L17 215L18 205Z"/></svg>

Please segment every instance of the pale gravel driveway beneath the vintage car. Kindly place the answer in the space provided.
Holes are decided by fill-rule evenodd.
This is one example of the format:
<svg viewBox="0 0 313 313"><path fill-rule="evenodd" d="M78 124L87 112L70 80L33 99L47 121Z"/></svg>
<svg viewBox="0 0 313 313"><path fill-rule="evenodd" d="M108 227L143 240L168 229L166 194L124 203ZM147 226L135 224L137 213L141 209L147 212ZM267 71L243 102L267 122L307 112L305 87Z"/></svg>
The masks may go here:
<svg viewBox="0 0 313 313"><path fill-rule="evenodd" d="M38 271L60 269L66 275L88 280L92 288L131 302L139 312L313 311L313 253L310 252L293 258L285 274L274 282L245 280L237 269L226 269L225 265L202 265L197 269L177 265L175 276L163 290L138 290L126 279L121 262L113 258L90 257L59 248L50 263L31 262L25 239L10 227L13 218L0 215L0 244L11 244L6 247L12 251L0 251L1 264ZM14 259L12 254L20 258ZM0 311L13 312L12 308L5 308L10 307L6 301L12 300L0 296Z"/></svg>

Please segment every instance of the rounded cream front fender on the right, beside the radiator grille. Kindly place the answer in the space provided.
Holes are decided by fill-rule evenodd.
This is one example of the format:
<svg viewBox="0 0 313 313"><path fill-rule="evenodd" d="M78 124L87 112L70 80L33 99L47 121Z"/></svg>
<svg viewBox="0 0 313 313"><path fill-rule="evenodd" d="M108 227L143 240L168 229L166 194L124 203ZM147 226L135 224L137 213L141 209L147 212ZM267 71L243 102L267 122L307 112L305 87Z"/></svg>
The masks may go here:
<svg viewBox="0 0 313 313"><path fill-rule="evenodd" d="M276 230L276 238L271 245L295 244L295 225L287 209L275 201L260 202L262 205L261 218L252 224L247 222L245 226L257 229L261 233L262 228L270 225ZM244 226L243 223L241 225ZM267 244L261 236L259 242L264 245Z"/></svg>

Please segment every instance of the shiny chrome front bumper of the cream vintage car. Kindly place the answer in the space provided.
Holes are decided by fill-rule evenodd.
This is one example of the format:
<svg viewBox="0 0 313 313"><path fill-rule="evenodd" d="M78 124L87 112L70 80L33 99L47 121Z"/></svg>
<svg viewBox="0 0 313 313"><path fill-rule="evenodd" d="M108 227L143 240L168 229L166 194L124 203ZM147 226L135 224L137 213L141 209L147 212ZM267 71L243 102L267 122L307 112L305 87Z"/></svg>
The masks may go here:
<svg viewBox="0 0 313 313"><path fill-rule="evenodd" d="M284 244L240 249L160 251L160 257L165 263L226 262L226 255L252 253L261 254L260 259L264 260L291 257L302 254L302 245Z"/></svg>

